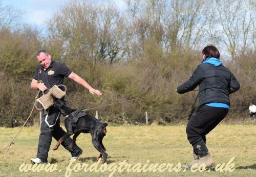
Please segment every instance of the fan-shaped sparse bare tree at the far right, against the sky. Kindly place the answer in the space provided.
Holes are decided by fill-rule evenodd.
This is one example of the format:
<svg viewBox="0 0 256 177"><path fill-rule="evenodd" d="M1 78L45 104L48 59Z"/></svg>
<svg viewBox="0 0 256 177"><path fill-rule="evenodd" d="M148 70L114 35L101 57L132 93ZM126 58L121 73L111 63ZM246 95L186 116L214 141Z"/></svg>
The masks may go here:
<svg viewBox="0 0 256 177"><path fill-rule="evenodd" d="M253 33L253 20L255 8L251 8L252 1L219 1L212 2L216 8L216 19L219 19L221 30L217 30L221 36L219 39L228 49L231 58L245 54L245 50L253 43L249 38ZM216 25L218 27L218 24ZM224 34L224 35L223 35Z"/></svg>

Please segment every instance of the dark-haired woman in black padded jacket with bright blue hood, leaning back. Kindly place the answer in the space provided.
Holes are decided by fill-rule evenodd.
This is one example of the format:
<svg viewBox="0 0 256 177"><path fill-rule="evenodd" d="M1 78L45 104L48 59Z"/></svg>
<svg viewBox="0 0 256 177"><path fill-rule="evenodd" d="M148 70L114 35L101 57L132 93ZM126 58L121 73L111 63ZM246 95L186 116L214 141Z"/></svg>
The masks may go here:
<svg viewBox="0 0 256 177"><path fill-rule="evenodd" d="M193 161L183 165L190 169L198 163L206 168L215 165L206 147L206 135L214 129L227 115L230 101L229 94L239 90L236 77L222 65L220 53L215 46L209 45L202 50L203 60L192 76L177 87L179 94L193 91L199 85L199 105L187 123L186 134L194 149Z"/></svg>

